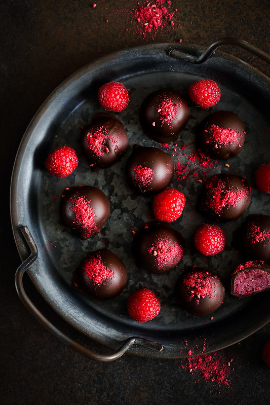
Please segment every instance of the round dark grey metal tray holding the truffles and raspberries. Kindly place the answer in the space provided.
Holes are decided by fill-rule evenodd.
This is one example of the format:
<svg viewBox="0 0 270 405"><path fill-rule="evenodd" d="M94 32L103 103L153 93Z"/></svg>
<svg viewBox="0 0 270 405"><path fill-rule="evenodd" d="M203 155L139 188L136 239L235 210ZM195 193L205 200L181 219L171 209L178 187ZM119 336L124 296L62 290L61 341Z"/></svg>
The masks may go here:
<svg viewBox="0 0 270 405"><path fill-rule="evenodd" d="M226 41L217 42L216 46ZM242 43L235 40L235 45ZM212 47L213 48L213 47ZM270 81L241 60L216 51L203 60L205 49L182 44L158 44L128 49L91 63L62 83L44 102L27 128L14 164L11 183L11 218L22 266L16 272L18 294L28 309L64 343L90 358L109 361L129 352L162 358L177 358L211 352L232 345L254 333L270 320L270 294L262 292L250 298L237 299L230 294L230 274L245 261L231 246L233 231L250 213L270 214L268 196L258 192L254 183L256 167L268 162L270 142ZM251 51L253 51L252 49ZM261 56L263 53L258 52ZM263 54L265 56L265 54ZM198 59L199 58L199 59ZM201 58L201 60L200 60ZM265 56L267 60L267 55ZM220 85L220 102L207 110L190 103L191 118L179 134L177 144L164 146L147 138L138 120L141 102L153 90L172 87L188 100L189 85L210 78ZM102 111L97 90L105 82L121 81L129 90L130 103L117 116L129 136L127 154L111 168L92 172L80 148L80 127ZM228 161L213 162L202 167L193 162L190 176L171 183L186 196L182 216L172 226L187 243L187 251L176 269L153 275L136 267L131 245L132 231L148 222L152 197L135 194L127 186L125 163L135 143L159 146L177 163L190 164L194 156L195 129L210 112L228 109L237 113L246 124L243 151ZM45 159L57 146L72 146L79 157L78 168L66 178L51 176ZM196 160L196 159L195 159ZM229 164L229 168L225 166ZM197 173L196 175L194 173ZM198 178L232 172L243 175L252 187L248 210L237 220L221 224L227 235L224 252L206 261L192 247L192 237L199 225L210 221L196 210L202 190ZM109 198L110 216L100 234L82 241L59 221L60 196L66 187L91 185L100 188ZM118 254L128 269L125 290L107 302L91 301L72 285L72 272L88 251L107 247ZM174 294L174 285L185 266L203 266L216 272L226 286L222 306L212 316L196 317L183 311ZM27 270L42 297L69 324L83 334L113 349L117 354L100 356L69 340L51 325L27 298L22 276ZM155 291L161 300L158 317L138 323L127 314L126 303L138 288ZM213 317L213 319L212 319Z"/></svg>

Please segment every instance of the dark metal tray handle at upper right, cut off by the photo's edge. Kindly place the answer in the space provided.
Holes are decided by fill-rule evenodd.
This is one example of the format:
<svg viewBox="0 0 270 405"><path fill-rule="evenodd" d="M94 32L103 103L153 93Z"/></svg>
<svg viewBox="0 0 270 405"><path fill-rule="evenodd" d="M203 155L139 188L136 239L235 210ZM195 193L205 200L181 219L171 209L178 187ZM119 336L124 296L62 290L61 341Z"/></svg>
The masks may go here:
<svg viewBox="0 0 270 405"><path fill-rule="evenodd" d="M249 51L253 53L255 56L258 56L265 62L270 64L270 55L267 54L266 52L262 51L261 49L255 47L254 45L249 44L248 42L244 40L239 40L238 38L226 36L224 38L219 38L218 40L214 41L209 47L198 57L194 55L190 55L181 51L176 51L172 49L169 51L169 55L178 58L178 59L184 59L188 62L191 63L203 63L209 57L212 55L212 53L219 48L222 45L236 45L240 48L245 49L246 51Z"/></svg>

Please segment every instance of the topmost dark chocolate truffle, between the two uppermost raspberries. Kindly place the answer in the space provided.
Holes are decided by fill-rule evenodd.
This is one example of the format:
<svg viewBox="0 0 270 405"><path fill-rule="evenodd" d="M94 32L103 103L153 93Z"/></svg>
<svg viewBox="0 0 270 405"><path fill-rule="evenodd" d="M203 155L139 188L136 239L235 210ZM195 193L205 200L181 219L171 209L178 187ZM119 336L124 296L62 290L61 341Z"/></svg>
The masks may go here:
<svg viewBox="0 0 270 405"><path fill-rule="evenodd" d="M180 92L163 89L146 97L139 117L144 133L157 142L165 143L177 138L190 117L190 111Z"/></svg>

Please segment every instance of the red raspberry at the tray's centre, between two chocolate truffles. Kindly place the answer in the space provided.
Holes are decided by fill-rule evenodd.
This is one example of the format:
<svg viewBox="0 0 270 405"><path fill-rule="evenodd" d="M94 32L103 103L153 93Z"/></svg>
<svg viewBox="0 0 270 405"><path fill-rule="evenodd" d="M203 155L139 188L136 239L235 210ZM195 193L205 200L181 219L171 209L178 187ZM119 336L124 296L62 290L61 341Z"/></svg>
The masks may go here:
<svg viewBox="0 0 270 405"><path fill-rule="evenodd" d="M173 222L182 214L185 196L176 189L167 189L153 198L155 217L164 222Z"/></svg>

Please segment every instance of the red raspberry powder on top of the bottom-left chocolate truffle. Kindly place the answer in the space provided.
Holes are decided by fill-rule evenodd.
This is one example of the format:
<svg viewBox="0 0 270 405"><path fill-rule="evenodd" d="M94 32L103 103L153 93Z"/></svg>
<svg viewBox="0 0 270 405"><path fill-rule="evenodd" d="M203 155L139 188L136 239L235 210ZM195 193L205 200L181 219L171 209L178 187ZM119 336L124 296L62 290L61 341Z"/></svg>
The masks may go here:
<svg viewBox="0 0 270 405"><path fill-rule="evenodd" d="M114 276L114 271L102 263L99 254L97 257L87 257L83 263L83 269L89 280L92 280L95 284L102 284L105 280Z"/></svg>

